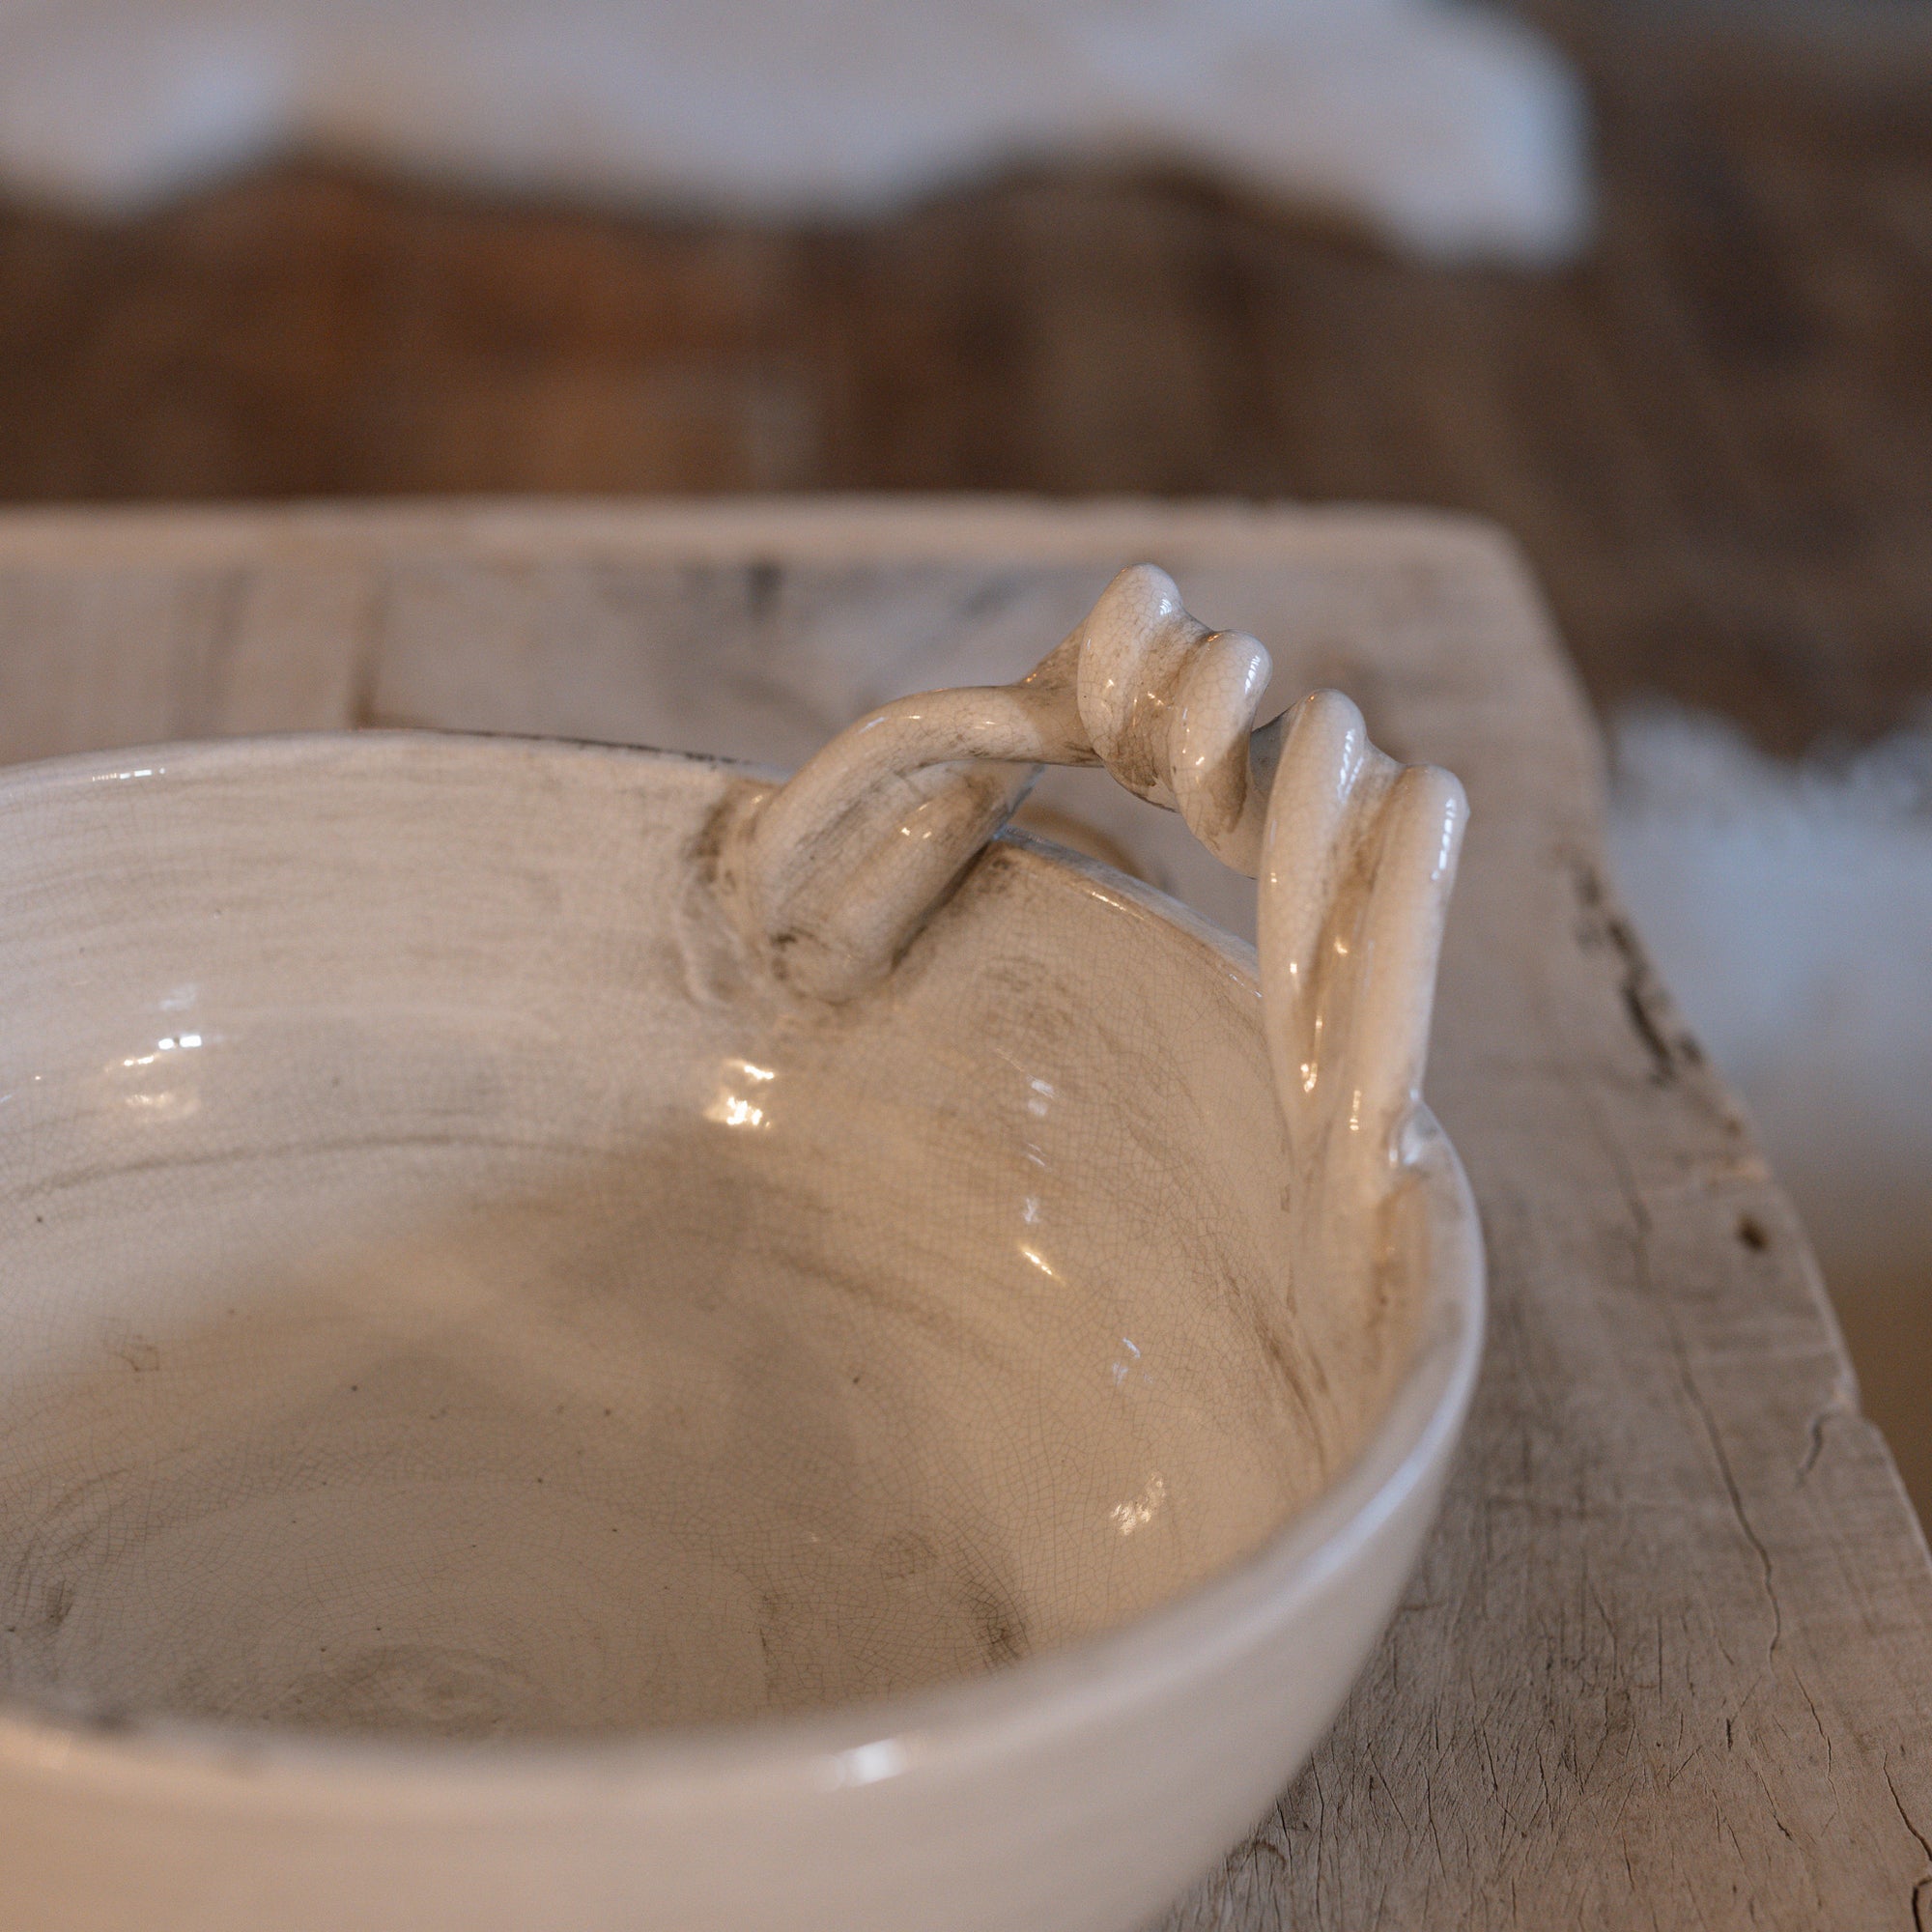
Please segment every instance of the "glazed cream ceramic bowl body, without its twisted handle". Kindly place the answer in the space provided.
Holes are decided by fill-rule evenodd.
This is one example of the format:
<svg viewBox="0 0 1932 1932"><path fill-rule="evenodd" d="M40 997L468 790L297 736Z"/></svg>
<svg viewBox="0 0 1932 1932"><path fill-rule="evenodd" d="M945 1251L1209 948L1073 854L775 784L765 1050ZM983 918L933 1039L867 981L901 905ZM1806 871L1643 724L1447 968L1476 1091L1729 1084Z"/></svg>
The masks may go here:
<svg viewBox="0 0 1932 1932"><path fill-rule="evenodd" d="M1378 1640L1480 1349L1296 1279L1252 951L1001 840L719 989L732 767L0 777L0 1924L1126 1928Z"/></svg>

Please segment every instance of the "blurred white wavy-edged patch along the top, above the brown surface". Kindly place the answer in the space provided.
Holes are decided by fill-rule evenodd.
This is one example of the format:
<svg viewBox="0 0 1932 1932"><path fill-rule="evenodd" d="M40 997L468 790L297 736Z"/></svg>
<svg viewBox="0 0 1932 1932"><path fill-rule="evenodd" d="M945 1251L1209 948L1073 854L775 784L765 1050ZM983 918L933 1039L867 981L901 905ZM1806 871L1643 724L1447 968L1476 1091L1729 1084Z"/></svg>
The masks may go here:
<svg viewBox="0 0 1932 1932"><path fill-rule="evenodd" d="M1435 257L1588 226L1582 106L1449 0L0 0L0 187L131 209L278 151L769 216L1151 158Z"/></svg>

